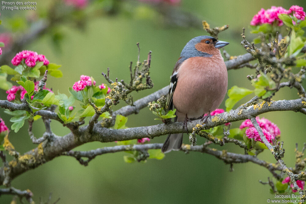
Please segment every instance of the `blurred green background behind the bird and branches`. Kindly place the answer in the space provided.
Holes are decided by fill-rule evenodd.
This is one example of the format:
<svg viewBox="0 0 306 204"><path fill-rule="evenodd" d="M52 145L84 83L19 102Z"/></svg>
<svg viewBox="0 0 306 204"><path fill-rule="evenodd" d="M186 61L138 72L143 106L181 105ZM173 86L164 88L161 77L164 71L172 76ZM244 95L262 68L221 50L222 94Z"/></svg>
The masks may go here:
<svg viewBox="0 0 306 204"><path fill-rule="evenodd" d="M36 1L37 9L31 12L2 11L1 32L20 33L31 30L28 23L48 18L48 9L55 2ZM77 9L73 17L69 15L69 6L63 6L57 12L68 15L56 21L55 25L34 41L26 43L23 49L44 54L50 62L62 65L64 77L49 77L47 86L54 91L69 94L68 87L79 79L81 74L93 76L97 83L106 83L102 71L110 67L110 76L118 79L129 79L128 65L137 60L136 43L140 43L141 60L152 50L151 79L155 86L151 90L134 93L139 99L169 84L170 75L182 48L193 37L206 35L201 20L207 20L211 26L229 24L230 28L219 35L222 41L230 42L226 50L231 55L246 53L241 46L242 28L246 28L247 39L249 23L254 14L261 8L282 6L289 9L292 5L306 7L304 0L181 0L179 3L147 3L139 1L99 0L89 2L88 6ZM57 7L58 8L58 7ZM69 11L69 12L68 12ZM78 13L77 13L78 12ZM50 15L50 14L49 14ZM54 13L55 15L55 13ZM49 16L50 18L50 16ZM9 22L19 20L12 26ZM15 35L14 37L18 37ZM5 51L5 49L4 49ZM21 50L20 50L21 51ZM10 59L9 59L10 60ZM228 87L251 88L246 76L254 70L243 68L230 70ZM306 87L306 84L303 84ZM1 99L6 98L0 91ZM251 96L250 96L251 97ZM227 98L227 96L226 96ZM225 98L225 99L226 99ZM274 100L296 99L297 91L283 88ZM244 99L248 100L248 98ZM241 102L243 103L243 102ZM114 109L124 106L121 102ZM224 102L220 108L225 109ZM9 116L0 110L1 117L8 127ZM302 147L305 139L305 115L294 112L272 112L263 114L281 130L284 141L285 162L293 166L295 162L295 143ZM127 126L137 127L158 124L155 116L144 108L137 115L128 117ZM43 133L42 121L35 122L34 134ZM239 127L241 122L232 125ZM27 133L27 123L16 134L10 132L10 141L16 150L24 153L35 147ZM56 121L51 123L55 134L65 135L67 128ZM156 137L151 143L162 143L166 136ZM184 143L188 142L185 136ZM198 144L205 139L198 138ZM76 150L91 150L99 147L113 146L115 143L93 142L77 147ZM219 147L228 151L243 153L235 145L226 144ZM258 180L267 181L270 172L252 163L234 164L233 172L223 161L196 152L170 152L162 160L150 159L146 163L127 164L123 161L126 153L105 154L96 157L84 167L70 157L59 157L25 172L13 180L12 186L19 189L30 189L34 200L39 197L47 200L52 192L52 200L60 198L58 203L266 203L274 197L269 186ZM259 155L260 159L274 162L268 151ZM12 196L0 197L0 203L9 203Z"/></svg>

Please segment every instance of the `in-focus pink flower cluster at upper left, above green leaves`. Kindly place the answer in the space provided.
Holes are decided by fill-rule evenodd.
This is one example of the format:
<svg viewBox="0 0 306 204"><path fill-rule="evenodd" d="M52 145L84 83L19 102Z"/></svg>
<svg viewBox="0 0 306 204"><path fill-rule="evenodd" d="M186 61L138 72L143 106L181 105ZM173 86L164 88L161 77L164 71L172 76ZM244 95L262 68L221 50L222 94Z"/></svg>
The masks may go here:
<svg viewBox="0 0 306 204"><path fill-rule="evenodd" d="M37 61L43 61L43 65L48 65L49 60L45 57L45 55L37 54L37 52L33 52L30 50L23 50L16 54L12 59L12 64L17 66L24 59L24 63L28 67L34 67Z"/></svg>

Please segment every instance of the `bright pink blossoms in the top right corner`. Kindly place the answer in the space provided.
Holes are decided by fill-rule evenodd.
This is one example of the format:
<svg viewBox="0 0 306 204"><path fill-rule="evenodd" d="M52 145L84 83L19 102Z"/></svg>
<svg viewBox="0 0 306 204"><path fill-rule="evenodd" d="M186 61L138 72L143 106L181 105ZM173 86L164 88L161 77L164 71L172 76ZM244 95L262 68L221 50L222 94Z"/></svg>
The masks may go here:
<svg viewBox="0 0 306 204"><path fill-rule="evenodd" d="M303 7L300 6L291 6L289 10L284 9L279 6L272 6L271 9L261 9L251 21L251 25L261 25L264 23L272 24L274 21L277 22L278 26L283 24L282 20L278 18L279 14L290 14L293 12L293 16L297 17L299 20L305 19L305 12L303 11Z"/></svg>

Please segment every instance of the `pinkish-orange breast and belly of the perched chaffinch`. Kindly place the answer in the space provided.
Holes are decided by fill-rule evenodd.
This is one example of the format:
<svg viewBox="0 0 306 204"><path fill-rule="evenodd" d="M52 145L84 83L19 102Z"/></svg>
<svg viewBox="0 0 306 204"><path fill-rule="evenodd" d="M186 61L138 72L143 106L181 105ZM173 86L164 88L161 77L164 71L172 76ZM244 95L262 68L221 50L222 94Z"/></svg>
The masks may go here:
<svg viewBox="0 0 306 204"><path fill-rule="evenodd" d="M227 70L219 52L212 57L191 57L178 70L173 104L180 115L201 117L221 104L227 91Z"/></svg>

